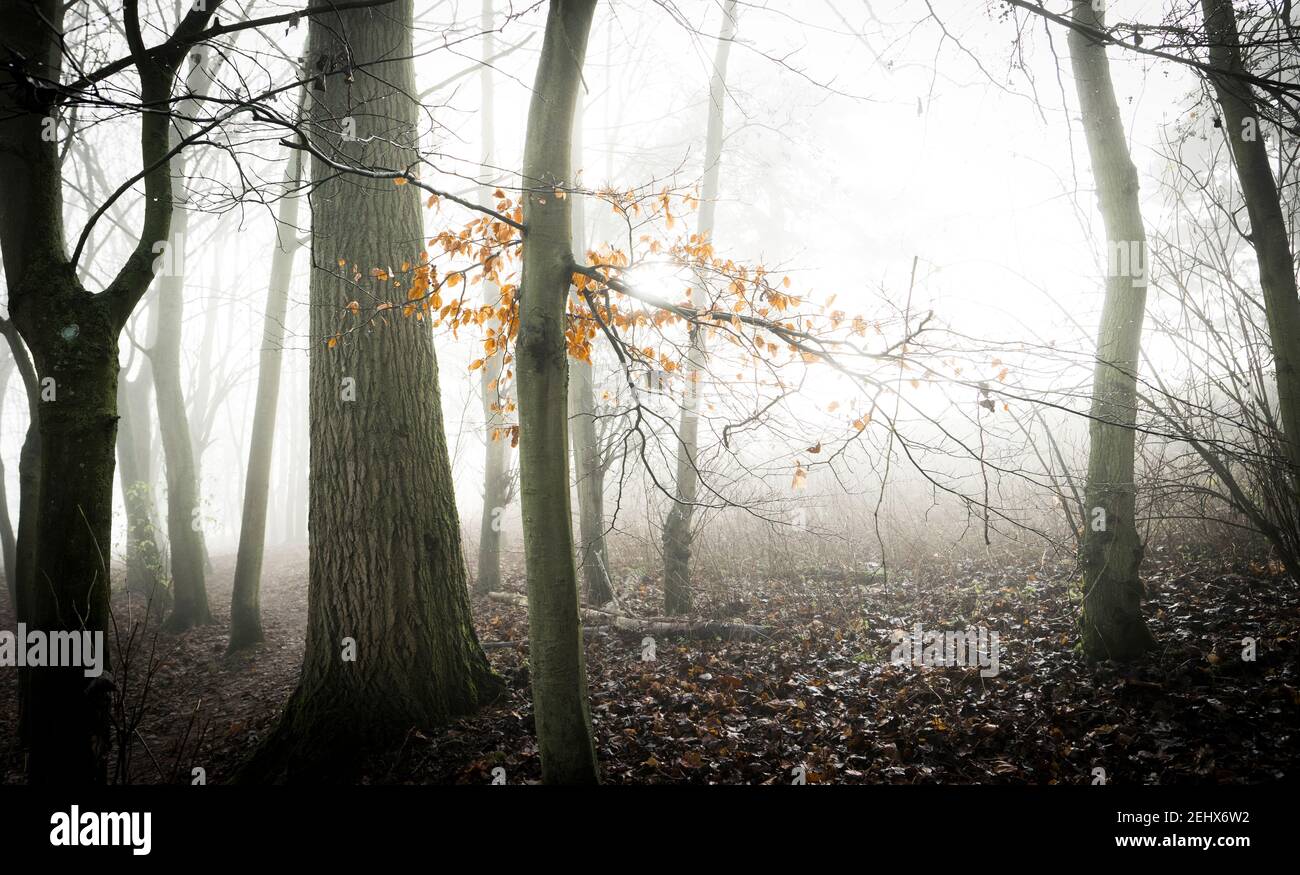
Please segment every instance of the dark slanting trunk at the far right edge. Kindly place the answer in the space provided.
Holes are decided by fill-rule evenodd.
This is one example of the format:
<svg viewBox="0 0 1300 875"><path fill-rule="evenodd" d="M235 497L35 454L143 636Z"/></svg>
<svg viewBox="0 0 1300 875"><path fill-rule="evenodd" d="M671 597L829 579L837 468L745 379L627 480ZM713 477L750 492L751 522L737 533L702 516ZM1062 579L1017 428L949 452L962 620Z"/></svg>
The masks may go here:
<svg viewBox="0 0 1300 875"><path fill-rule="evenodd" d="M1231 0L1201 0L1209 35L1210 64L1244 73L1240 38ZM1260 265L1264 311L1278 371L1278 408L1291 482L1300 493L1300 295L1287 222L1264 144L1264 120L1251 86L1232 75L1210 75L1223 109L1223 127L1232 147L1236 177L1251 217L1251 243Z"/></svg>

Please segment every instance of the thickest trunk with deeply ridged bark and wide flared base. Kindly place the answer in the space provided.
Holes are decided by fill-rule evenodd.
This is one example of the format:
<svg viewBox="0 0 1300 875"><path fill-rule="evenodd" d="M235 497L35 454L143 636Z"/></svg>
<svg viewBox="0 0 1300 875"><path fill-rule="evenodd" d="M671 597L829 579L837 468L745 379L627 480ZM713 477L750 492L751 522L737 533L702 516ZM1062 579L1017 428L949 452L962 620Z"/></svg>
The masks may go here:
<svg viewBox="0 0 1300 875"><path fill-rule="evenodd" d="M411 33L411 0L311 20L316 148L360 165L412 165ZM348 60L364 73L351 74ZM355 140L333 134L343 118L354 121ZM416 263L420 196L318 159L312 182L307 651L298 688L243 780L342 777L368 746L473 711L499 688L471 624L428 325L369 309L368 328L326 343L359 321L347 309L359 294L354 265L368 274ZM370 282L404 300L406 286ZM343 658L344 638L355 660Z"/></svg>

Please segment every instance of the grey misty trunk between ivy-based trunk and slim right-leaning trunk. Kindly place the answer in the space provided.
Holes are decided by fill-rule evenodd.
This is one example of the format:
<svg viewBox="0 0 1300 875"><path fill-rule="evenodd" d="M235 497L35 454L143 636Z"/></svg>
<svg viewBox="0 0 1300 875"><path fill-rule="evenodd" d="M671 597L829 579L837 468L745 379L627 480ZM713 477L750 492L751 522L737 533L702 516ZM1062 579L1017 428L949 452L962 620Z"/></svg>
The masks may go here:
<svg viewBox="0 0 1300 875"><path fill-rule="evenodd" d="M205 65L208 52L196 48L191 56L187 86L191 94L207 91L211 79ZM185 118L195 114L196 101L182 100L176 121L177 137L188 134ZM166 536L172 553L174 603L168 618L169 629L182 632L212 623L208 590L204 582L203 520L199 503L199 472L194 460L190 419L185 411L181 387L181 335L185 326L186 234L190 211L185 205L185 164L176 163L173 176L172 237L168 264L159 277L159 333L150 352L153 364L153 391L159 407L159 433L166 458Z"/></svg>

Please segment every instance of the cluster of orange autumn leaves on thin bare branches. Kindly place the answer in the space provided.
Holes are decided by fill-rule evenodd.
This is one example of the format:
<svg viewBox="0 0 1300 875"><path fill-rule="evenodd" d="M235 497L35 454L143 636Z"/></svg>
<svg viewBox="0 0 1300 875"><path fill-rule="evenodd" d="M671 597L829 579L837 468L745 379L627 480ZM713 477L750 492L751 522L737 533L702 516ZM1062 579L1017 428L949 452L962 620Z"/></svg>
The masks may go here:
<svg viewBox="0 0 1300 875"><path fill-rule="evenodd" d="M407 179L395 178L395 185L404 185ZM627 218L629 226L637 222L662 220L663 225L672 230L680 221L680 213L673 213L675 203L684 212L698 208L699 202L694 194L673 194L668 190L651 196L636 191L619 192L604 189L593 192L597 199L610 204L611 209ZM564 198L562 190L556 190L556 198ZM439 198L429 195L426 207L437 208ZM523 238L517 228L500 217L508 217L516 224L523 224L523 204L498 189L493 192L491 213L477 215L458 230L445 229L428 242L428 248L421 251L415 263L403 261L400 270L391 268L372 267L364 270L359 265L352 265L351 281L359 289L363 281L369 277L378 286L370 294L373 304L363 307L360 300L351 300L346 306L347 315L354 320L368 319L373 315L387 311L398 311L402 316L417 320L428 319L434 326L447 328L456 334L460 328L477 326L482 330L482 356L476 358L469 364L469 371L478 371L494 355L502 356L503 377L512 377L508 369L512 356L510 346L516 339L519 332L519 286L517 265L521 256ZM430 252L436 255L430 255ZM593 272L601 277L595 278L588 273L575 273L572 277L572 291L568 302L568 320L566 326L566 345L568 355L575 360L586 364L593 363L593 341L602 333L602 326L619 334L625 351L642 363L653 364L663 369L664 373L676 373L682 369L680 351L675 347L655 348L654 346L638 346L634 342L637 329L654 328L660 338L663 329L679 325L707 324L710 333L715 328L728 326L728 339L740 346L741 337L751 345L753 355L777 356L783 347L792 358L812 364L820 356L797 343L781 338L781 332L809 332L814 326L823 332L837 332L846 328L848 333L857 337L866 337L872 330L881 334L879 324L871 322L861 315L848 315L842 309L829 309L835 303L832 295L818 309L819 313L798 312L803 303L802 296L790 294L790 278L784 276L780 281L774 281L772 274L762 265L749 267L732 259L719 257L712 242L707 235L689 234L679 235L675 239L664 241L650 234L642 234L638 239L636 252L602 244L588 254L588 264ZM448 264L439 274L434 260L445 259ZM628 280L629 272L646 259L668 263L675 268L684 269L694 277L703 277L714 293L708 302L693 303L697 283L685 289L682 299L679 302L660 302L660 306L646 306L628 298L616 286ZM341 270L347 268L344 259L338 260ZM467 293L476 285L489 282L498 290L494 302L485 300L474 306L467 299ZM446 296L446 300L445 300ZM364 311L370 311L365 313ZM829 311L829 312L827 312ZM745 319L742 319L742 316ZM751 329L750 334L742 335L745 325ZM763 333L774 335L783 342L767 338ZM328 338L328 345L334 347L342 338L342 333ZM690 374L696 378L698 374ZM998 374L998 380L1005 380L1006 371ZM913 381L914 385L916 381ZM489 386L497 389L497 381ZM837 410L838 402L833 402L827 412ZM512 412L514 402L494 404L494 412ZM871 423L870 413L858 416L852 421L852 426L862 432ZM511 432L517 426L499 429L502 433ZM494 438L500 434L494 436ZM517 442L517 432L511 432L512 443Z"/></svg>

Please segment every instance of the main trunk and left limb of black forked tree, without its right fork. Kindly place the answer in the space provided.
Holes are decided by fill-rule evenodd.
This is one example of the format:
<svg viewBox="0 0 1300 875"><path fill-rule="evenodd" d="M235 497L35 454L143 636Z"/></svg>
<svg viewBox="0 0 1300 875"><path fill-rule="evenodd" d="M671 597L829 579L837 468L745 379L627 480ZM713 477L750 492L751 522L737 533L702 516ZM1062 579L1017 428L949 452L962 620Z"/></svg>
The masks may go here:
<svg viewBox="0 0 1300 875"><path fill-rule="evenodd" d="M6 4L5 39L27 74L60 78L62 5ZM55 144L42 138L51 109L25 98L22 73L0 74L0 246L9 313L31 350L46 394L38 408L44 447L30 605L20 616L52 631L103 631L108 621L117 324L104 296L82 289L64 255ZM34 98L31 98L34 100ZM75 459L77 464L69 464ZM22 523L20 521L20 528ZM21 536L20 536L21 537ZM21 575L20 575L21 579ZM40 585L35 585L40 581ZM21 588L20 588L21 589ZM103 781L105 712L79 667L38 668L20 686L34 783Z"/></svg>

